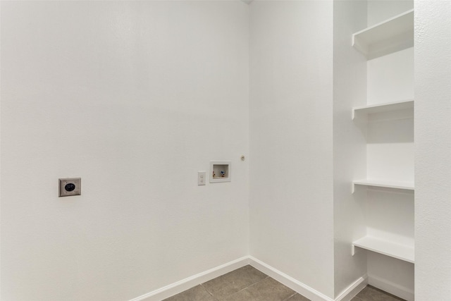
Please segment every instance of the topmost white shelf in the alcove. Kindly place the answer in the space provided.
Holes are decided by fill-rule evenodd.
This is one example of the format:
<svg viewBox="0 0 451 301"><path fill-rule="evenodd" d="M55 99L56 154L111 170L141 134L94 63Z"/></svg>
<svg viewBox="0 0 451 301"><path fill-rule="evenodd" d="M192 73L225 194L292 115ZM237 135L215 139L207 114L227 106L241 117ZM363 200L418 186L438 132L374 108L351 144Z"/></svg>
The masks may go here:
<svg viewBox="0 0 451 301"><path fill-rule="evenodd" d="M414 46L414 10L368 27L352 35L352 46L367 59Z"/></svg>

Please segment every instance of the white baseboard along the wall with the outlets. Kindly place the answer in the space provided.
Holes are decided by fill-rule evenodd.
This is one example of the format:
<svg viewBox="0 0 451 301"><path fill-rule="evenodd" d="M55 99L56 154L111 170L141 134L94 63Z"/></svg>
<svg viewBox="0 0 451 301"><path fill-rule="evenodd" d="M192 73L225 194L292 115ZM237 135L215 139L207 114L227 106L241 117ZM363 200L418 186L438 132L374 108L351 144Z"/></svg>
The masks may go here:
<svg viewBox="0 0 451 301"><path fill-rule="evenodd" d="M235 269L240 269L240 267L247 264L249 264L249 257L241 257L239 259L233 260L232 262L228 262L221 266L217 266L216 268L209 269L208 271L204 271L170 285L166 285L163 288L159 288L158 290L154 290L150 293L141 295L140 297L135 297L130 301L160 301L178 293L182 293L184 290L190 289L196 285L199 285L200 283L204 283L223 274L227 274L228 272Z"/></svg>

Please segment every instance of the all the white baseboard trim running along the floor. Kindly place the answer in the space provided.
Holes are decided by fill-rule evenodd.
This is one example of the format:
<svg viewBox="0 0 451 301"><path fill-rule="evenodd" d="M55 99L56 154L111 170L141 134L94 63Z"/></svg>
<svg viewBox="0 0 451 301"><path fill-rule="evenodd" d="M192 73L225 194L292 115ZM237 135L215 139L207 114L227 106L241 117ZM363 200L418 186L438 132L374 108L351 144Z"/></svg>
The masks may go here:
<svg viewBox="0 0 451 301"><path fill-rule="evenodd" d="M295 278L292 278L287 274L274 269L272 266L259 261L259 259L257 258L254 258L252 256L245 256L241 257L240 259L236 259L233 262L228 262L227 264L217 266L214 269L209 269L208 271L204 271L194 276L185 278L181 281L166 285L163 288L159 288L158 290L154 290L145 295L141 295L140 297L135 297L130 301L160 301L178 293L182 293L184 290L190 289L196 285L199 285L200 283L204 283L230 271L239 269L240 267L247 264L254 266L254 268L264 272L264 274L268 276L271 276L283 285L288 286L288 288L291 288L304 297L309 298L311 301L350 301L352 297L357 295L357 293L359 293L359 291L362 290L366 285L366 278L359 278L357 279L357 281L352 283L349 288L343 290L343 292L340 293L340 295L334 300L333 298L323 295L317 290L314 290L314 288L310 288L308 285L297 281ZM379 288L380 286L376 287ZM388 292L391 293L390 291ZM393 293L393 295L396 294Z"/></svg>

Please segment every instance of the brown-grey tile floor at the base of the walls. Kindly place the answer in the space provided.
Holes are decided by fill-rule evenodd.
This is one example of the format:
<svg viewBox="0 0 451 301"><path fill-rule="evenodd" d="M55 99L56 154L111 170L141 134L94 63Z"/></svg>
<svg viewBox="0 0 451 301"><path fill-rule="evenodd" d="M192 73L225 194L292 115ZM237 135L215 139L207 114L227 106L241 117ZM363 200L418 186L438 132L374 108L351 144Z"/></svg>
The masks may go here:
<svg viewBox="0 0 451 301"><path fill-rule="evenodd" d="M308 301L252 266L243 266L164 301ZM352 301L402 300L367 286Z"/></svg>

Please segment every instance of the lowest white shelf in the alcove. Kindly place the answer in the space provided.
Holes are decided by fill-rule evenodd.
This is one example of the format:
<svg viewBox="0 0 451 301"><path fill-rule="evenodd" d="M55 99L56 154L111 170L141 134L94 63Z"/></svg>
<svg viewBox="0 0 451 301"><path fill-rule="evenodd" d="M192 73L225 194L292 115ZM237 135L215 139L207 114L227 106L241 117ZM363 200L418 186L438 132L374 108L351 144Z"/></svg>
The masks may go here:
<svg viewBox="0 0 451 301"><path fill-rule="evenodd" d="M396 242L365 236L364 238L360 238L359 240L352 242L352 247L353 255L354 247L361 247L365 250L404 260L404 262L414 263L414 247L409 245L400 245Z"/></svg>

